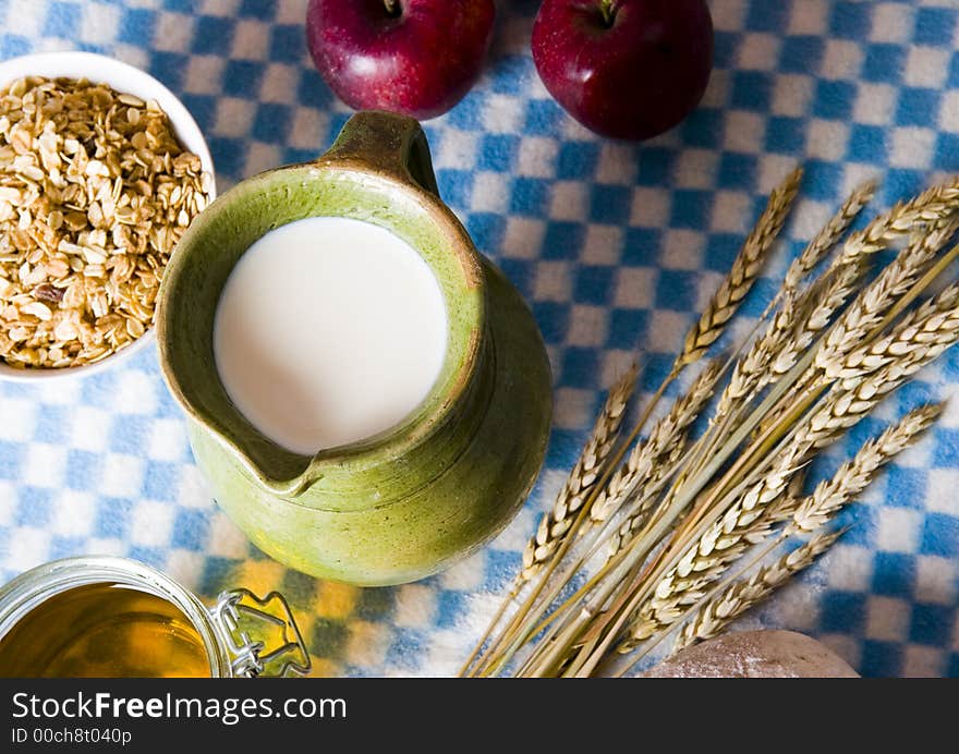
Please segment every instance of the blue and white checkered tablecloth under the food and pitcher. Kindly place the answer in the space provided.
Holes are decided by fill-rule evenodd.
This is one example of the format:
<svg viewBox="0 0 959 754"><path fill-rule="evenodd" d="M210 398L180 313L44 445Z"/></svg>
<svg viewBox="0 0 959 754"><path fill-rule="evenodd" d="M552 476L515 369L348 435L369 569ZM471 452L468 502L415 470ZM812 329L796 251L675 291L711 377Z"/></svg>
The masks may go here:
<svg viewBox="0 0 959 754"><path fill-rule="evenodd" d="M309 61L305 0L0 0L0 58L85 49L138 65L204 130L221 190L323 151L347 120ZM537 3L499 3L486 73L426 124L440 190L521 289L556 380L556 426L531 500L450 571L359 589L288 571L210 499L153 352L57 385L0 384L0 577L104 552L142 559L205 598L277 587L320 674L454 672L562 483L600 390L633 354L648 394L681 332L797 161L804 200L787 257L853 185L878 205L959 170L959 7L951 0L712 0L715 71L679 127L633 146L568 118L529 53ZM748 325L742 321L741 325ZM954 392L959 352L863 422L816 472L906 406ZM854 528L748 625L821 637L867 676L959 676L959 401L866 494Z"/></svg>

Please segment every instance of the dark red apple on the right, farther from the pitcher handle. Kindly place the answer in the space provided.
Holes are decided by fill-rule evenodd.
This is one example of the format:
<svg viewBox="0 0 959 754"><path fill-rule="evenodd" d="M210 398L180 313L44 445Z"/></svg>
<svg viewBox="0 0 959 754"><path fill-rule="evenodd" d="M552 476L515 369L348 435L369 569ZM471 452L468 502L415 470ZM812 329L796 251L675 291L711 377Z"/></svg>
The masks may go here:
<svg viewBox="0 0 959 754"><path fill-rule="evenodd" d="M650 138L702 98L713 20L704 0L544 0L533 61L549 94L587 129Z"/></svg>

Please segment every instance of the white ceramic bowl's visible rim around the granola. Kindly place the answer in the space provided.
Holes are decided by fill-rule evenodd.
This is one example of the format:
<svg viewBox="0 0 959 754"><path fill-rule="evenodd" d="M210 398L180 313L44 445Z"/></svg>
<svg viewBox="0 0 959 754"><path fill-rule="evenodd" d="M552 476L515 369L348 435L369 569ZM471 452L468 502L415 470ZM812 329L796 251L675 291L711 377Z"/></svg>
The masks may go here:
<svg viewBox="0 0 959 754"><path fill-rule="evenodd" d="M148 73L113 58L92 52L41 52L0 62L0 88L24 76L89 78L96 84L108 84L111 88L123 94L136 95L141 99L155 99L170 118L170 123L180 144L197 155L203 169L215 178L209 147L199 126L193 120L193 115L170 89ZM216 198L216 181L210 184L209 198L210 200ZM110 354L102 361L60 369L16 369L0 361L0 380L32 382L37 379L85 377L131 358L154 342L154 330L149 328L133 343Z"/></svg>

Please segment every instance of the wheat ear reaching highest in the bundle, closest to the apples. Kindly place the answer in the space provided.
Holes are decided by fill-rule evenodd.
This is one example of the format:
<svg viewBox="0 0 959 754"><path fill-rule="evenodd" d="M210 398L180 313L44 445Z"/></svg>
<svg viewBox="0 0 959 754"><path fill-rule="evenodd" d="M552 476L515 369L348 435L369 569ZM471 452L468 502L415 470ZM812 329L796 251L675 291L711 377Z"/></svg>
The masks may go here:
<svg viewBox="0 0 959 754"><path fill-rule="evenodd" d="M793 170L769 195L762 216L746 236L742 250L732 263L729 273L709 300L699 321L687 333L682 352L677 356L673 370L700 358L723 333L726 323L736 314L745 294L763 269L773 242L782 229L792 200L799 192L802 169Z"/></svg>

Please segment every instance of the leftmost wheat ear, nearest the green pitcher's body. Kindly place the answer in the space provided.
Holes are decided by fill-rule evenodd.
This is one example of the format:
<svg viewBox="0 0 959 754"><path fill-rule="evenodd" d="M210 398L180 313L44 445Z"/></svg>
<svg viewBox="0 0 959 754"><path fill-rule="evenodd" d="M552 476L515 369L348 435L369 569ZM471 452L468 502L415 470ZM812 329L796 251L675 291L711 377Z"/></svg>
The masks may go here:
<svg viewBox="0 0 959 754"><path fill-rule="evenodd" d="M549 559L599 481L606 460L616 445L635 382L636 367L633 365L610 388L583 452L557 495L551 510L543 514L536 533L526 543L523 551L523 568L518 574L517 586L532 579Z"/></svg>

